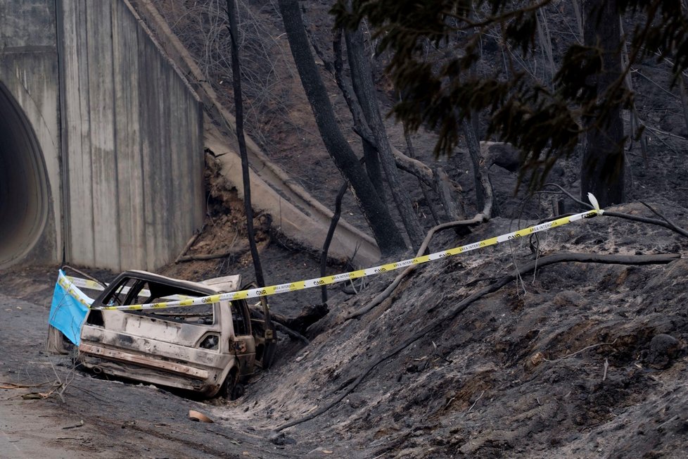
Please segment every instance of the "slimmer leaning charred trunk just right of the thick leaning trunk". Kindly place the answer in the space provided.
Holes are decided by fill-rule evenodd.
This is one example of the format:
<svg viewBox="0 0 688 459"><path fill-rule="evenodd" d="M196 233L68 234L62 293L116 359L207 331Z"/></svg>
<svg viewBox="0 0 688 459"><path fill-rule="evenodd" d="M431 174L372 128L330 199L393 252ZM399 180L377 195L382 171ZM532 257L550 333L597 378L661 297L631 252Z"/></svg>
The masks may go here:
<svg viewBox="0 0 688 459"><path fill-rule="evenodd" d="M409 235L411 244L417 250L423 242L423 228L414 212L409 195L403 191L399 175L397 174L397 166L377 103L370 63L364 56L363 37L360 29L345 31L345 38L354 92L375 139L378 152L380 153L380 163L385 171L387 182L392 191L392 197L399 210L402 222L404 222L404 227Z"/></svg>

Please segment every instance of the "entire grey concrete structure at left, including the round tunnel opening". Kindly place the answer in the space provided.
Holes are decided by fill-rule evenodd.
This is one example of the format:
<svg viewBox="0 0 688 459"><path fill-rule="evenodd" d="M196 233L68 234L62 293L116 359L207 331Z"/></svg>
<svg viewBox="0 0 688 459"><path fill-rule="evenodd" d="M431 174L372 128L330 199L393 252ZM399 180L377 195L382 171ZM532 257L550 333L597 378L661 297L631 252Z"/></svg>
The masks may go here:
<svg viewBox="0 0 688 459"><path fill-rule="evenodd" d="M203 109L126 1L0 0L0 266L155 269L203 223Z"/></svg>

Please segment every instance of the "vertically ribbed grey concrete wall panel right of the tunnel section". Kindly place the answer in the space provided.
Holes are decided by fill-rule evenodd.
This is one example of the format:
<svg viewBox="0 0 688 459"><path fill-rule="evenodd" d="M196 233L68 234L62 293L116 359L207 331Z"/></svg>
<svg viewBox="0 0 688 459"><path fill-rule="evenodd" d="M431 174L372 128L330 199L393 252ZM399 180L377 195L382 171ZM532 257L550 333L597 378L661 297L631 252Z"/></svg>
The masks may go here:
<svg viewBox="0 0 688 459"><path fill-rule="evenodd" d="M67 258L154 269L203 224L202 107L125 1L60 1Z"/></svg>

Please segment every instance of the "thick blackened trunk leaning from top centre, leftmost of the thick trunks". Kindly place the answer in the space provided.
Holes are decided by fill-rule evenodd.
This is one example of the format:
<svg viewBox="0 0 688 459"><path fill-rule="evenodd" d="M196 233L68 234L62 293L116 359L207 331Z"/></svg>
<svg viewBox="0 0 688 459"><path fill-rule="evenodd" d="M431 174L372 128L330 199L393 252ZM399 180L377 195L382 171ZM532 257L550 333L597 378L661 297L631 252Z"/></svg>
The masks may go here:
<svg viewBox="0 0 688 459"><path fill-rule="evenodd" d="M319 70L310 51L297 0L279 0L291 54L327 151L351 184L355 198L385 255L406 249L389 210L341 133Z"/></svg>

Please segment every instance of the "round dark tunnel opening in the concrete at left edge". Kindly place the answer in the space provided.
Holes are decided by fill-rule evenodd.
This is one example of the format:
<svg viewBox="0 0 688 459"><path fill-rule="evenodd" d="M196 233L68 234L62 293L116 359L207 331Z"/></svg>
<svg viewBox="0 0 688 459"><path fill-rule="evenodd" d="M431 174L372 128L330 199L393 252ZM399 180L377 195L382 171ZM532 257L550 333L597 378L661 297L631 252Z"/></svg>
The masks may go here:
<svg viewBox="0 0 688 459"><path fill-rule="evenodd" d="M48 179L36 134L0 82L0 268L21 260L48 217Z"/></svg>

